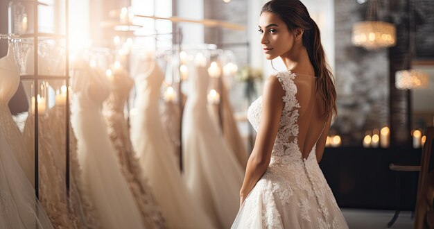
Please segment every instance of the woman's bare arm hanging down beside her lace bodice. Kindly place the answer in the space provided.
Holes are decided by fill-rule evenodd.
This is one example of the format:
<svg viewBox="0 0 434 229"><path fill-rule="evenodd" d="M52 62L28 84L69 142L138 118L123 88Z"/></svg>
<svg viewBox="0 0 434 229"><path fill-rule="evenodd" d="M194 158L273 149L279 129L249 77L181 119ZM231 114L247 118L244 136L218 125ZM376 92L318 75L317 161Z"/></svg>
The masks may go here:
<svg viewBox="0 0 434 229"><path fill-rule="evenodd" d="M262 94L261 124L259 124L254 148L247 163L243 187L240 191L240 205L266 172L270 163L272 146L275 143L281 112L284 108L282 101L284 95L285 91L279 80L275 76L268 77Z"/></svg>

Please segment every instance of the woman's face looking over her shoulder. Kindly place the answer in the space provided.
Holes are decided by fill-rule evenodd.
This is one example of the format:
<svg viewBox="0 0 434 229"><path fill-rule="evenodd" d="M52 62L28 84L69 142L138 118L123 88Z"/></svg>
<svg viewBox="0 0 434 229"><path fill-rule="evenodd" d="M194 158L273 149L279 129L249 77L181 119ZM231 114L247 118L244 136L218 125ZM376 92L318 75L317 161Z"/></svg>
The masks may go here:
<svg viewBox="0 0 434 229"><path fill-rule="evenodd" d="M268 60L284 56L294 44L294 35L285 22L272 12L263 12L259 17L259 33L263 52Z"/></svg>

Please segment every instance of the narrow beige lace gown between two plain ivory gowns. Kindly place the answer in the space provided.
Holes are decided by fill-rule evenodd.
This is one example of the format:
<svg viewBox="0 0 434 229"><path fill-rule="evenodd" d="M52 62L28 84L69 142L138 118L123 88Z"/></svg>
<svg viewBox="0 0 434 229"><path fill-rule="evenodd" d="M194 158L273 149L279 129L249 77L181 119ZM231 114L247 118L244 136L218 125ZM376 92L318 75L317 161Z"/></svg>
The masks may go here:
<svg viewBox="0 0 434 229"><path fill-rule="evenodd" d="M123 176L134 194L146 228L164 228L164 219L159 212L159 206L155 202L153 192L144 178L139 160L132 149L130 130L123 112L134 81L122 67L118 67L114 69L110 83L113 91L104 102L103 113L110 139L117 151Z"/></svg>

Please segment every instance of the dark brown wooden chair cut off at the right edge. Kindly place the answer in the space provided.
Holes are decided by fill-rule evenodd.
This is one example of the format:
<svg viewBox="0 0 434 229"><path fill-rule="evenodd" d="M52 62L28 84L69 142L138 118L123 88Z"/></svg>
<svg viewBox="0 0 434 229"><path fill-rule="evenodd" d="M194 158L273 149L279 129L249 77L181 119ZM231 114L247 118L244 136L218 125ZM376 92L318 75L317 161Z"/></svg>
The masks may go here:
<svg viewBox="0 0 434 229"><path fill-rule="evenodd" d="M422 159L417 184L415 219L413 228L434 228L431 224L434 201L434 127L426 130L426 142L422 149ZM431 155L433 155L431 157ZM431 223L430 223L431 222ZM430 225L431 224L431 225Z"/></svg>

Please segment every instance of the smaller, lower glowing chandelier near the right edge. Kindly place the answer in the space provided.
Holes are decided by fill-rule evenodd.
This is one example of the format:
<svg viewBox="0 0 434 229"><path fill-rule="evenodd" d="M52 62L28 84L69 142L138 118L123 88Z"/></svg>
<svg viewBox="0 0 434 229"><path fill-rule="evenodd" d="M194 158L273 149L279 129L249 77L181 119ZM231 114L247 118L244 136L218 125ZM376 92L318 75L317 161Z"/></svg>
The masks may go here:
<svg viewBox="0 0 434 229"><path fill-rule="evenodd" d="M428 74L423 71L410 69L395 73L395 87L400 90L426 88L429 84Z"/></svg>

